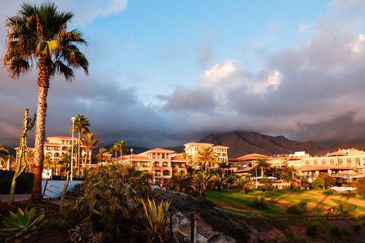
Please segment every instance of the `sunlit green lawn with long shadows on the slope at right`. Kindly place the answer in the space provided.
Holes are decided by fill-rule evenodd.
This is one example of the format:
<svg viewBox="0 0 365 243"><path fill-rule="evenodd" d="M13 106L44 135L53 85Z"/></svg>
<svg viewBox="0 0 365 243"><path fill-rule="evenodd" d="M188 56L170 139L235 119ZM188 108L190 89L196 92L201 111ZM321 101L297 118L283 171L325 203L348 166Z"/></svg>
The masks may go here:
<svg viewBox="0 0 365 243"><path fill-rule="evenodd" d="M350 194L323 192L320 190L272 190L270 192L256 191L242 194L235 190L205 190L205 196L229 212L242 215L263 215L273 217L286 217L292 214L286 209L300 203L302 199L310 199L308 203L309 212L304 215L327 215L329 208L336 208L341 201L355 204L357 210L353 215L365 215L364 197ZM267 209L256 210L250 206L250 199L254 196L265 196L268 203ZM294 215L296 216L296 215Z"/></svg>

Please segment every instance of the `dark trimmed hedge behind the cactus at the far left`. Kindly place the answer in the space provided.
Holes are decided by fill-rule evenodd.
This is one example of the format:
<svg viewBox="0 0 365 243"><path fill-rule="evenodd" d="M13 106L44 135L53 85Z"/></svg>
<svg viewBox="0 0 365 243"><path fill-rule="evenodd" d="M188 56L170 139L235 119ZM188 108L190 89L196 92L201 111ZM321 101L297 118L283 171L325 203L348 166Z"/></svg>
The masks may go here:
<svg viewBox="0 0 365 243"><path fill-rule="evenodd" d="M9 194L14 171L0 170L0 194ZM22 173L17 178L15 194L31 194L33 190L33 173Z"/></svg>

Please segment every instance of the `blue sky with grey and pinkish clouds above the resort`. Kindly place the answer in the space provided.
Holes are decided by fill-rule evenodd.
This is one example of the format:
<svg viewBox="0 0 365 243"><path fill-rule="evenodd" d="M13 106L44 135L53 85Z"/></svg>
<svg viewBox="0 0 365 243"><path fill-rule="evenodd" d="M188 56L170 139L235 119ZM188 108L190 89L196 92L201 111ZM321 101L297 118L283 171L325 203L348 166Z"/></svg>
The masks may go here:
<svg viewBox="0 0 365 243"><path fill-rule="evenodd" d="M37 4L44 1L35 1ZM22 1L0 0L6 16ZM46 137L84 114L106 143L178 146L256 131L320 144L365 140L365 1L57 0L88 41L89 75L55 76ZM36 69L0 69L0 143L36 112ZM29 132L33 144L34 131Z"/></svg>

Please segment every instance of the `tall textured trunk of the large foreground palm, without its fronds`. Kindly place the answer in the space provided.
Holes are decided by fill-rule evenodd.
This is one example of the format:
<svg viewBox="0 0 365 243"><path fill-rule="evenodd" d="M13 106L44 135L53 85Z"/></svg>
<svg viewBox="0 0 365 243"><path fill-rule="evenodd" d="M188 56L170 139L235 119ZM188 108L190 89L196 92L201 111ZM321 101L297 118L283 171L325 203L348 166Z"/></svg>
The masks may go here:
<svg viewBox="0 0 365 243"><path fill-rule="evenodd" d="M38 105L36 121L36 140L34 142L34 180L31 200L42 201L42 169L45 160L45 117L47 115L47 94L51 77L52 60L41 56L38 61Z"/></svg>

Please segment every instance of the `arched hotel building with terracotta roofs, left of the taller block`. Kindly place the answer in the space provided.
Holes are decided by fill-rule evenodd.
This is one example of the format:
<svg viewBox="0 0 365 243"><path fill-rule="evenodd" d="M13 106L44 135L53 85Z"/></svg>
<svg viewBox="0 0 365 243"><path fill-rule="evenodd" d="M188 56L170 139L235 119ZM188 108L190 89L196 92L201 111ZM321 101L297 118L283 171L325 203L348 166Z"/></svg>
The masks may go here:
<svg viewBox="0 0 365 243"><path fill-rule="evenodd" d="M136 169L147 171L153 177L154 184L169 183L172 176L185 174L189 160L173 156L175 151L169 149L150 149L139 154L122 156L121 161L133 165Z"/></svg>

